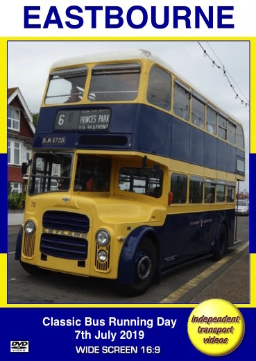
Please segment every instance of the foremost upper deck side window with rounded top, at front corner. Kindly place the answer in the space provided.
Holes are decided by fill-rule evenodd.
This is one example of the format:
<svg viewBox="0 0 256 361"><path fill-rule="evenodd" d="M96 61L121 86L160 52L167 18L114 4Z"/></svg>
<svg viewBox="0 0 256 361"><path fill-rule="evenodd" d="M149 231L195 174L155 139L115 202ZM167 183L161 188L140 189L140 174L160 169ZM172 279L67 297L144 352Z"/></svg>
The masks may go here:
<svg viewBox="0 0 256 361"><path fill-rule="evenodd" d="M148 79L148 103L164 110L171 109L171 75L159 67L152 67Z"/></svg>

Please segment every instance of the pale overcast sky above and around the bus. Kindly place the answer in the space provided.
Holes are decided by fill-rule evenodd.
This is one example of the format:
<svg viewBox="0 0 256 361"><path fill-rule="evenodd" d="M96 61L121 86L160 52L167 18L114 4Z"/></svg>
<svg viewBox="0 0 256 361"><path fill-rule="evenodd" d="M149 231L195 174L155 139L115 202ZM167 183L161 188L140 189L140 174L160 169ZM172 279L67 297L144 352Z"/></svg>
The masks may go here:
<svg viewBox="0 0 256 361"><path fill-rule="evenodd" d="M250 113L250 43L245 41L8 41L8 87L19 87L31 112L39 112L53 62L87 53L145 49L162 58L183 79L241 121L246 141L246 182ZM204 56L203 49L207 56ZM210 57L210 58L209 58ZM212 60L215 65L212 67ZM219 65L222 69L219 69ZM228 78L223 76L223 67ZM233 90L234 89L234 90ZM240 99L235 99L236 94ZM241 99L244 101L241 104Z"/></svg>

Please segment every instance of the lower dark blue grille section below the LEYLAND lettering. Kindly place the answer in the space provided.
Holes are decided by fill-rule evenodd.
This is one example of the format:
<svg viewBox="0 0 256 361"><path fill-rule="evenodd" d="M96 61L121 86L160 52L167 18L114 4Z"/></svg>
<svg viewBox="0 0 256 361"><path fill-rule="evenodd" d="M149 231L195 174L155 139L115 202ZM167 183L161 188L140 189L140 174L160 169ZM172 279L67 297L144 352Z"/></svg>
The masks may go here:
<svg viewBox="0 0 256 361"><path fill-rule="evenodd" d="M85 238L42 233L40 252L58 258L69 260L85 260L87 258L88 242Z"/></svg>

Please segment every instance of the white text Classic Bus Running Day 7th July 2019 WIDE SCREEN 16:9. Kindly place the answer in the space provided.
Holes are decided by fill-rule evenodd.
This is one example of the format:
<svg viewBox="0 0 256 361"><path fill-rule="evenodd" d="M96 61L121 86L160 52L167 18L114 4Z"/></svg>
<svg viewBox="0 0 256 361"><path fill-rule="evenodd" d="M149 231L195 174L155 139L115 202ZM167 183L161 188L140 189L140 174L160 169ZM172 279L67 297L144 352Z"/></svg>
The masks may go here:
<svg viewBox="0 0 256 361"><path fill-rule="evenodd" d="M84 329L75 329L75 337L77 340L106 340L106 342L125 342L124 340L142 340L145 337L145 328L153 328L154 326L164 326L175 328L177 319L165 319L164 317L156 317L155 319L117 319L117 317L108 317L108 319L94 319L85 317L82 319L56 319L54 317L44 317L42 324L46 327L86 327ZM105 328L110 327L110 329ZM130 328L129 328L130 327ZM118 329L117 329L118 328ZM144 329L142 329L144 328ZM138 346L76 346L77 353L160 353L160 346L140 345Z"/></svg>

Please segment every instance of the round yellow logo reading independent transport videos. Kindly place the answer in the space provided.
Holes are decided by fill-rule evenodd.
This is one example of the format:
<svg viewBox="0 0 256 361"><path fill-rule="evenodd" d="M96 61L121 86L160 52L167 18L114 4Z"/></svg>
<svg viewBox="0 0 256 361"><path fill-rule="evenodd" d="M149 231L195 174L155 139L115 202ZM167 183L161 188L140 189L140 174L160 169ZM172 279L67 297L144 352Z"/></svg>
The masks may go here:
<svg viewBox="0 0 256 361"><path fill-rule="evenodd" d="M205 355L227 355L244 337L244 318L232 303L210 299L191 312L187 332L192 344Z"/></svg>

